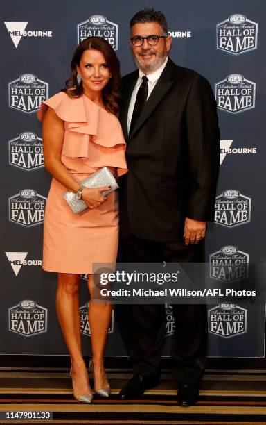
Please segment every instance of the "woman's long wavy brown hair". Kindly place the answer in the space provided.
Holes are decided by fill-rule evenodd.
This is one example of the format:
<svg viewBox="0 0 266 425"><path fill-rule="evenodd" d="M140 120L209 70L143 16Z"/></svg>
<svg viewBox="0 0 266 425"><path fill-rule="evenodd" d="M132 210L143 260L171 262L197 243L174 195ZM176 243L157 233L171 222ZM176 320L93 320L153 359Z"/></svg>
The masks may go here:
<svg viewBox="0 0 266 425"><path fill-rule="evenodd" d="M77 66L80 65L82 54L89 49L98 50L103 53L105 57L112 78L109 79L107 85L103 88L103 103L105 103L105 108L108 112L117 116L119 113L118 99L119 84L121 81L120 64L114 49L109 42L102 37L88 37L78 45L71 60L71 77L66 81L66 88L61 91L67 93L69 97L81 96L83 88L82 83L78 84Z"/></svg>

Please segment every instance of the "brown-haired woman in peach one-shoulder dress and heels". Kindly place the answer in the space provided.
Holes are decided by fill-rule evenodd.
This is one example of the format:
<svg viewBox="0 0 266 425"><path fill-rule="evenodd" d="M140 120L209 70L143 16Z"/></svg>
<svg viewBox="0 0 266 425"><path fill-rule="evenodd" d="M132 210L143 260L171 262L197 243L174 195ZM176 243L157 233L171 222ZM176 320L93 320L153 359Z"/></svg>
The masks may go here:
<svg viewBox="0 0 266 425"><path fill-rule="evenodd" d="M109 43L100 37L83 40L71 61L71 78L62 92L38 112L43 122L44 161L53 176L44 218L43 269L58 273L57 317L71 357L73 394L90 403L92 392L80 341L78 289L80 274L89 274L92 263L114 263L118 247L118 200L107 197L108 187L80 188L79 181L107 166L113 174L127 172L125 140L118 122L119 63ZM74 215L63 198L66 190L89 206ZM94 390L108 397L109 383L103 355L112 315L109 303L89 305L91 369Z"/></svg>

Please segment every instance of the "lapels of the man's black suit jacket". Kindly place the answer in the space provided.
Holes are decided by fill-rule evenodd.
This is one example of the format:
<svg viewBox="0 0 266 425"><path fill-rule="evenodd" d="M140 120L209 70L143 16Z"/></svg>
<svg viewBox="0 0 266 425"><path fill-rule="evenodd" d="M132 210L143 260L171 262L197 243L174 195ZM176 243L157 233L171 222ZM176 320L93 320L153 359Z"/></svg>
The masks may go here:
<svg viewBox="0 0 266 425"><path fill-rule="evenodd" d="M139 116L139 119L137 120L134 126L134 129L130 135L130 139L134 136L136 131L139 130L139 128L143 125L145 120L150 116L153 110L160 103L161 99L163 99L165 94L172 87L172 84L174 83L174 79L172 78L172 69L174 67L175 67L174 63L172 63L172 60L168 58L166 67L163 69L163 73L161 74L159 81L157 81L154 89L152 90L152 93L150 94L148 101L146 101L145 103L145 106L141 112L141 115ZM131 94L130 94L130 98L131 98ZM130 100L127 105L127 110L128 110L129 103L130 103ZM127 111L126 111L126 115L127 115Z"/></svg>

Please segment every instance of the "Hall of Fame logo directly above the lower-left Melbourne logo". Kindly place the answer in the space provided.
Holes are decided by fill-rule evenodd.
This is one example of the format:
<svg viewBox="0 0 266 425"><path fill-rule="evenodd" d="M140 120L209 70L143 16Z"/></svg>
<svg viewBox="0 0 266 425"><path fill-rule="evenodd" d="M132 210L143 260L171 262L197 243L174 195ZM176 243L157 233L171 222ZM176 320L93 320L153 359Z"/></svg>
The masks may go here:
<svg viewBox="0 0 266 425"><path fill-rule="evenodd" d="M44 222L46 197L34 189L22 189L8 199L9 221L31 227Z"/></svg>

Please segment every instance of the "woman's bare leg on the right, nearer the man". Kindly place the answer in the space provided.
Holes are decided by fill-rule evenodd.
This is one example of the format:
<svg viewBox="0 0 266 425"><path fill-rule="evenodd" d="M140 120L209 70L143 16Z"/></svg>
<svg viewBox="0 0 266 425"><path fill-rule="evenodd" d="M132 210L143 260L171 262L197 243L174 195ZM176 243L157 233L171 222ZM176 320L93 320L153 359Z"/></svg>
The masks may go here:
<svg viewBox="0 0 266 425"><path fill-rule="evenodd" d="M110 303L98 303L93 301L93 275L88 276L89 293L91 301L89 301L89 328L91 329L91 351L92 362L94 367L94 388L109 388L103 356L105 353L105 345L107 341L107 333L112 317L112 305Z"/></svg>

